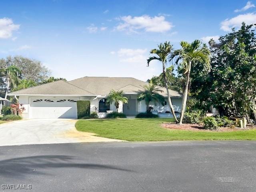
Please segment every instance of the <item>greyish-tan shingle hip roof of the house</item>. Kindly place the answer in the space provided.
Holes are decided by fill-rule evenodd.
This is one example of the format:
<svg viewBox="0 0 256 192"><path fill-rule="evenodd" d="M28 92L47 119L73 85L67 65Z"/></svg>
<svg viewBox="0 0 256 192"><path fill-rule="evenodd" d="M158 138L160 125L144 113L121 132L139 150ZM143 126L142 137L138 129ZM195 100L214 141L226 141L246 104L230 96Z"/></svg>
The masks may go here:
<svg viewBox="0 0 256 192"><path fill-rule="evenodd" d="M30 95L30 94L46 94L46 95L108 95L110 90L123 90L124 93L136 93L143 89L148 83L135 78L122 77L83 77L69 82L63 80L42 84L36 87L27 88L11 92L8 95ZM166 89L163 90L163 96L167 96ZM170 90L170 96L182 97L177 91Z"/></svg>

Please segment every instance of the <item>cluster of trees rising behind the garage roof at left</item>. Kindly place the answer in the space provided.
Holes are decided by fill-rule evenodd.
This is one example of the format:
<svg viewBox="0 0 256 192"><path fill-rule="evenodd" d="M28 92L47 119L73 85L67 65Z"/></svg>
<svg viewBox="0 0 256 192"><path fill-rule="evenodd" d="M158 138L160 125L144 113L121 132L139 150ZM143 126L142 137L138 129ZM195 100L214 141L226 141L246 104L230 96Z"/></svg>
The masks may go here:
<svg viewBox="0 0 256 192"><path fill-rule="evenodd" d="M0 95L6 97L10 91L29 88L42 83L66 80L54 78L42 62L22 56L0 59Z"/></svg>

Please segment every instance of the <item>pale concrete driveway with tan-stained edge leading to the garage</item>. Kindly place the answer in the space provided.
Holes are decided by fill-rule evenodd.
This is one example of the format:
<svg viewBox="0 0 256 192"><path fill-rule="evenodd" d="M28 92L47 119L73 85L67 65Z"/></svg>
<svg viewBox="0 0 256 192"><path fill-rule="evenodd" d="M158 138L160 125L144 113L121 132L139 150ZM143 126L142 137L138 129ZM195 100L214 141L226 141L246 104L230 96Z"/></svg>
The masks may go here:
<svg viewBox="0 0 256 192"><path fill-rule="evenodd" d="M72 119L29 119L0 124L0 146L120 141L80 132Z"/></svg>

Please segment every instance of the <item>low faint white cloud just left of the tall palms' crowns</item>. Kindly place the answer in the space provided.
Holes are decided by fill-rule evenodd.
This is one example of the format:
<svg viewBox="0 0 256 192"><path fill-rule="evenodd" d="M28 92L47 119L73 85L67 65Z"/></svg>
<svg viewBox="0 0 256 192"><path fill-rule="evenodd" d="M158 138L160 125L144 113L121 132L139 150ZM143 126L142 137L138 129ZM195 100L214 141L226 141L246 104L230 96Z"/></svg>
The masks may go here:
<svg viewBox="0 0 256 192"><path fill-rule="evenodd" d="M121 48L117 51L120 62L126 63L146 63L147 49L126 49ZM114 52L115 53L115 52Z"/></svg>

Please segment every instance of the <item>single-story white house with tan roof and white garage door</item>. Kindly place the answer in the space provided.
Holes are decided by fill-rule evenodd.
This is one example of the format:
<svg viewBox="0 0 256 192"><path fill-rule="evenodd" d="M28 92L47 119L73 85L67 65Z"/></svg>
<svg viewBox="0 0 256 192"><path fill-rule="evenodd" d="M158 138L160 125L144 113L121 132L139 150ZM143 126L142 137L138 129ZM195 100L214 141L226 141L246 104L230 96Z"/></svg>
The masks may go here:
<svg viewBox="0 0 256 192"><path fill-rule="evenodd" d="M97 112L104 117L107 110L116 111L114 104L107 104L106 96L110 90L123 90L128 98L127 104L119 104L118 112L134 116L146 112L144 101L138 102L138 92L144 90L142 86L148 84L135 78L117 77L83 77L72 81L58 80L32 88L10 92L8 96L16 96L24 105L24 118L77 118L76 101L89 100L90 112ZM154 105L154 112L171 116L168 106L166 89L160 87L159 92L166 98L165 105ZM182 94L170 90L174 110L180 112Z"/></svg>

